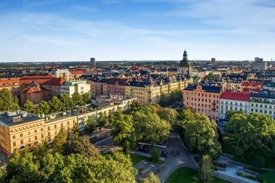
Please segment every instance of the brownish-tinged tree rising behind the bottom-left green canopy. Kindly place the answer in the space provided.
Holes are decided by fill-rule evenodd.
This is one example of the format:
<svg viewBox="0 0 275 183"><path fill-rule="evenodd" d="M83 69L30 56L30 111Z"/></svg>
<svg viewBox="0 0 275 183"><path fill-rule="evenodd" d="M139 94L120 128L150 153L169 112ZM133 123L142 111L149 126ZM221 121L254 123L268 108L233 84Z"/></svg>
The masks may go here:
<svg viewBox="0 0 275 183"><path fill-rule="evenodd" d="M88 136L80 136L79 133L71 133L63 146L63 154L79 153L87 157L99 155L98 149L89 141Z"/></svg>

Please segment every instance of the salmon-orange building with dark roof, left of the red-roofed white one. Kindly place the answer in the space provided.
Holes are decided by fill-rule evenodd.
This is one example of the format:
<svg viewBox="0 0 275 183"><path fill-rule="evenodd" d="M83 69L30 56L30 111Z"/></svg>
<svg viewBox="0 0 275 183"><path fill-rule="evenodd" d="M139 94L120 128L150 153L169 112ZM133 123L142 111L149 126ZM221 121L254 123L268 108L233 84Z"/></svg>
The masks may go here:
<svg viewBox="0 0 275 183"><path fill-rule="evenodd" d="M219 86L189 84L183 92L184 107L218 121L221 90Z"/></svg>

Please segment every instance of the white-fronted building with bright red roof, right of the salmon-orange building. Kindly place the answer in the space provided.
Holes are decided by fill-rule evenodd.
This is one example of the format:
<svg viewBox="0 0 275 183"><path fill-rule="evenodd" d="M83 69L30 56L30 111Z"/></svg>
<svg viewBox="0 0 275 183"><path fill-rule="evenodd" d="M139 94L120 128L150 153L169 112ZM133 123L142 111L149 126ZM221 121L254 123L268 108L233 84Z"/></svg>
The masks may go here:
<svg viewBox="0 0 275 183"><path fill-rule="evenodd" d="M244 111L249 114L250 94L223 92L219 100L219 122L224 122L226 111Z"/></svg>

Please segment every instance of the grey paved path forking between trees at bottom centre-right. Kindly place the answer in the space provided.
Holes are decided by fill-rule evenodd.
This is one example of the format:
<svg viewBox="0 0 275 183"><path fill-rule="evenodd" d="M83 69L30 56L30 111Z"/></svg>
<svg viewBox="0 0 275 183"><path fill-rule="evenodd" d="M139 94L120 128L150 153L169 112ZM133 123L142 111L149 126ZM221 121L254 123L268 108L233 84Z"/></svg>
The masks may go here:
<svg viewBox="0 0 275 183"><path fill-rule="evenodd" d="M172 150L179 151L179 155L171 155L170 151ZM179 167L190 167L195 169L199 167L177 136L170 136L168 138L167 151L168 155L166 157L166 167L157 174L161 182L164 182L166 178Z"/></svg>

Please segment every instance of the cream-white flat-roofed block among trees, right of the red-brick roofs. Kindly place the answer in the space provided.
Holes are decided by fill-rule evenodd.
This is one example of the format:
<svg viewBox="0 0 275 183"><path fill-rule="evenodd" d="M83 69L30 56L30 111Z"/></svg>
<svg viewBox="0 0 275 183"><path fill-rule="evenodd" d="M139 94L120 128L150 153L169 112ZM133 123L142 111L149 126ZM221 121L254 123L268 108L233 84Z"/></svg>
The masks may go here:
<svg viewBox="0 0 275 183"><path fill-rule="evenodd" d="M91 94L91 84L87 83L86 80L76 80L76 81L66 81L65 85L61 86L61 95L62 94Z"/></svg>

